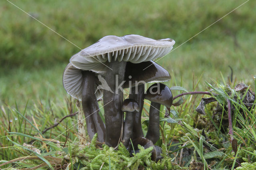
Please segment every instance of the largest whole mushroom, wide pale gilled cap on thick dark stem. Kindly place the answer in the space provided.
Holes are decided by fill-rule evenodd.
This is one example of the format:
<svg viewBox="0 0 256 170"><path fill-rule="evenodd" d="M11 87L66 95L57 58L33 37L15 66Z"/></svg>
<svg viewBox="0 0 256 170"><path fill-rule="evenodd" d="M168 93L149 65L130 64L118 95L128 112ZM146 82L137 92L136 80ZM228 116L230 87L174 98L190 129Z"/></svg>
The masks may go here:
<svg viewBox="0 0 256 170"><path fill-rule="evenodd" d="M103 74L114 91L103 93L108 146L117 146L122 135L122 88L127 61L141 63L162 57L171 51L174 43L172 39L153 40L139 35L106 36L71 57L74 67Z"/></svg>

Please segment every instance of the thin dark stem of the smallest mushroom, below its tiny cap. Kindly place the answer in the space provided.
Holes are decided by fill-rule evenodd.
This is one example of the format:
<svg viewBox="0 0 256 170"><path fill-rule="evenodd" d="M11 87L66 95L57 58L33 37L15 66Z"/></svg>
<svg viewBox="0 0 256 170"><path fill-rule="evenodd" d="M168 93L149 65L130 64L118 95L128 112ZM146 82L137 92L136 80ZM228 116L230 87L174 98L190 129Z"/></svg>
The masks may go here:
<svg viewBox="0 0 256 170"><path fill-rule="evenodd" d="M132 136L132 127L134 125L133 122L133 114L132 112L126 112L125 121L124 121L124 132L123 132L123 138L124 141L123 144L125 147L128 147L130 138Z"/></svg>

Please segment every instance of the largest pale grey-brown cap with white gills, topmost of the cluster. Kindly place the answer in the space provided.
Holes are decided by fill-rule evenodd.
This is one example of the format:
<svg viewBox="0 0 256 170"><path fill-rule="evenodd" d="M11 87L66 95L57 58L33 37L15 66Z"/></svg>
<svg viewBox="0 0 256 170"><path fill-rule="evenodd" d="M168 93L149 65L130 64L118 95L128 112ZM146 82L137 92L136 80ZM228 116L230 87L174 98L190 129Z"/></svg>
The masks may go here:
<svg viewBox="0 0 256 170"><path fill-rule="evenodd" d="M104 62L130 61L141 63L168 54L175 41L169 38L154 40L139 35L105 36L70 58L70 63L83 70L104 73ZM100 63L101 62L101 63Z"/></svg>

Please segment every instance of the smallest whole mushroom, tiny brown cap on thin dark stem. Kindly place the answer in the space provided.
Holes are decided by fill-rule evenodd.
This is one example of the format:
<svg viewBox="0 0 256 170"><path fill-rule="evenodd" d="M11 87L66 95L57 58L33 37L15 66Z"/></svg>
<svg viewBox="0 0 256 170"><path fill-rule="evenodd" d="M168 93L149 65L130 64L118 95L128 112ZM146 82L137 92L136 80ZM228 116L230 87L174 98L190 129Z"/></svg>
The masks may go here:
<svg viewBox="0 0 256 170"><path fill-rule="evenodd" d="M127 147L130 142L130 137L132 136L132 128L134 124L133 114L138 113L140 107L134 99L125 99L122 104L122 111L126 112L122 142L124 146Z"/></svg>

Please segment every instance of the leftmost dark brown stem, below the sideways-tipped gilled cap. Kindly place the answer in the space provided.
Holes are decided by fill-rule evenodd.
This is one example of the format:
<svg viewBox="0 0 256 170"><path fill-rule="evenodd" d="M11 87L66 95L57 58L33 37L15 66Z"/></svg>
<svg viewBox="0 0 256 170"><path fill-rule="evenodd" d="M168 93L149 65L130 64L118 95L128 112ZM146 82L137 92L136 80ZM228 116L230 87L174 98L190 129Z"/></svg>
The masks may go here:
<svg viewBox="0 0 256 170"><path fill-rule="evenodd" d="M90 139L95 133L98 133L98 141L105 140L105 125L100 117L99 105L94 94L96 81L92 71L82 71L82 108L86 119L86 127Z"/></svg>

